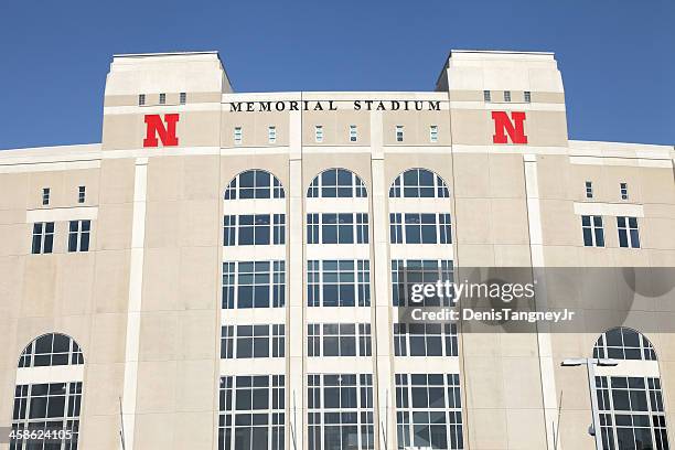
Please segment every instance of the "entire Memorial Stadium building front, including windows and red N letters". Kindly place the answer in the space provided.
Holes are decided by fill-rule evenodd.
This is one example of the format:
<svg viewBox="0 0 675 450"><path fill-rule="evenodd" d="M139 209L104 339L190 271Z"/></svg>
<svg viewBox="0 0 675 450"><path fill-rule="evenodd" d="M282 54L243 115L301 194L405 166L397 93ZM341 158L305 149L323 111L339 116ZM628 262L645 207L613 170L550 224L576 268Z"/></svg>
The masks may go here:
<svg viewBox="0 0 675 450"><path fill-rule="evenodd" d="M667 449L675 303L470 333L400 322L397 286L673 268L674 162L569 140L549 53L453 51L433 92L260 94L216 53L116 55L100 143L0 152L0 427L60 449L592 449L587 374L560 363L596 356L621 361L598 367L606 448Z"/></svg>

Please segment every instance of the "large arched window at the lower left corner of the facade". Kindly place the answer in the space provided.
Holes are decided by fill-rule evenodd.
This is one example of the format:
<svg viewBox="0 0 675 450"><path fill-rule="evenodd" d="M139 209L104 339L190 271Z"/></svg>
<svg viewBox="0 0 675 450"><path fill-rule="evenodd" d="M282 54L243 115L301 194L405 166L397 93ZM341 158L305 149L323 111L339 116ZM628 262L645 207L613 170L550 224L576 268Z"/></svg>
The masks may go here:
<svg viewBox="0 0 675 450"><path fill-rule="evenodd" d="M10 449L77 449L83 364L79 345L65 334L44 334L23 350L17 372ZM49 366L69 367L53 374L44 372Z"/></svg>

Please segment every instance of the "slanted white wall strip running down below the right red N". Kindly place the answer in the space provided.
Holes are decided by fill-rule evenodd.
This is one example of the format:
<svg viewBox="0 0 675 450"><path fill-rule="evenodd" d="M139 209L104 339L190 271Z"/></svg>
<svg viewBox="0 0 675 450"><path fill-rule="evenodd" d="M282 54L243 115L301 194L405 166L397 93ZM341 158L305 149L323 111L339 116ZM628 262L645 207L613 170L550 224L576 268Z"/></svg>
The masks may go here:
<svg viewBox="0 0 675 450"><path fill-rule="evenodd" d="M536 154L524 154L525 162L525 191L527 195L527 226L529 231L529 254L532 267L536 277L537 270L544 267L544 239L542 237L542 211L539 206L539 182L537 175ZM538 311L548 310L546 277L537 277L535 299ZM549 449L561 450L559 431L555 429L558 424L558 395L556 393L553 347L549 326L537 324L537 344L539 347L539 374L542 376L542 397L544 401L544 420L546 420L546 442Z"/></svg>

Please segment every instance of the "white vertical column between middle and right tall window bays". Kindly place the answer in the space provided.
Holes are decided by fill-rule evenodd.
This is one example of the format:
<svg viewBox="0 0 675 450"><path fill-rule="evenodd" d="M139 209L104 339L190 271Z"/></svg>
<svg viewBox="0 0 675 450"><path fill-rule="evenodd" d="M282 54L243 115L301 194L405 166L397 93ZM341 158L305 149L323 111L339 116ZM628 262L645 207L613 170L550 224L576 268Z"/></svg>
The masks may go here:
<svg viewBox="0 0 675 450"><path fill-rule="evenodd" d="M382 137L382 113L371 113L371 176L373 180L372 226L373 226L373 298L375 304L375 431L378 435L378 449L393 449L396 435L394 414L394 386L392 385L393 360L390 354L390 311L389 296L389 254L387 231L388 183L385 175L385 161Z"/></svg>

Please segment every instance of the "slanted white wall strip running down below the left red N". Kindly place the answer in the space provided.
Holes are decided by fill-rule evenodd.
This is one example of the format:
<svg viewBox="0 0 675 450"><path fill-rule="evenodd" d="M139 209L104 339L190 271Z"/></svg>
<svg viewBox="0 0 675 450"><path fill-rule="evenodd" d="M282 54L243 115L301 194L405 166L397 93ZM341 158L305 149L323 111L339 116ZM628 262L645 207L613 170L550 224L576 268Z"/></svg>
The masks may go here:
<svg viewBox="0 0 675 450"><path fill-rule="evenodd" d="M138 387L140 312L143 286L147 190L148 158L137 158L133 178L133 222L131 227L131 261L129 265L129 301L127 303L125 390L121 405L125 450L133 449L133 431L136 426L136 393Z"/></svg>

